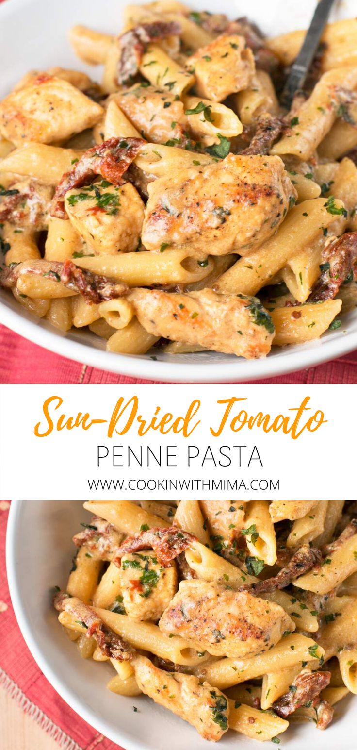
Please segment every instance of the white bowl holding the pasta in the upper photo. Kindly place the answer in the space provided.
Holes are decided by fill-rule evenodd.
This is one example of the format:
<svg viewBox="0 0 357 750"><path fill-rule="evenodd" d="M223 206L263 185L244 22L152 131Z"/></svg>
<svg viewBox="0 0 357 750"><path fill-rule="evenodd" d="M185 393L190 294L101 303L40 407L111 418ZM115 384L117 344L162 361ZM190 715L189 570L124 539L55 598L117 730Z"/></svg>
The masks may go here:
<svg viewBox="0 0 357 750"><path fill-rule="evenodd" d="M190 3L187 3L188 5ZM68 28L86 24L113 33L121 28L125 0L7 0L0 5L0 98L31 68L53 65L77 68L92 77L101 68L81 63L68 42ZM247 13L267 34L275 35L308 26L314 2L311 0L253 0L249 8L237 0L192 0L198 9L226 11L231 17ZM356 0L336 4L333 20L356 15ZM126 356L105 351L105 342L91 332L74 329L62 334L46 320L36 320L20 307L13 296L0 290L0 321L35 344L62 356L86 362L115 373L180 383L229 383L282 375L341 356L357 347L357 314L344 317L344 326L323 335L320 341L294 347L275 347L261 360L237 359L218 353L169 356L154 351ZM151 353L152 355L153 353Z"/></svg>

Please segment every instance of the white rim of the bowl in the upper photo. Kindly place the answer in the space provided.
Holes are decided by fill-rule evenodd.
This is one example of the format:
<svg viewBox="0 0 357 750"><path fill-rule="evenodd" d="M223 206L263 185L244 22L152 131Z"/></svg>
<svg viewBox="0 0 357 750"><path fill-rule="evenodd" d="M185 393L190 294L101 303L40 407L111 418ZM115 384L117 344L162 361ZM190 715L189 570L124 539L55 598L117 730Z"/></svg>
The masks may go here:
<svg viewBox="0 0 357 750"><path fill-rule="evenodd" d="M0 17L5 19L19 12L21 7L34 5L41 0L11 0L0 4ZM357 347L357 330L339 331L329 334L329 340L311 341L305 348L301 345L284 347L278 356L245 360L232 356L229 362L184 362L172 356L172 362L156 361L150 356L111 353L82 341L74 341L56 329L49 330L43 323L30 320L20 308L10 308L6 299L0 297L0 323L22 335L34 344L60 356L74 359L81 364L104 371L138 379L163 381L166 383L242 383L254 382L270 377L280 377L294 371L336 359ZM348 326L348 323L347 323Z"/></svg>

